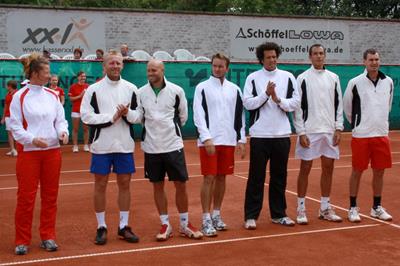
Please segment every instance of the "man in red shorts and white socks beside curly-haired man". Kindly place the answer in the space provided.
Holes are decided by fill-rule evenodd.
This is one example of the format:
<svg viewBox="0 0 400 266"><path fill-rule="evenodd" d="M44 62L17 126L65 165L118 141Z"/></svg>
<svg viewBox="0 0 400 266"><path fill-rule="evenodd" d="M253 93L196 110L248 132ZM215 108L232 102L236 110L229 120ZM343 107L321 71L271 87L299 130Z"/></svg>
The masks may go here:
<svg viewBox="0 0 400 266"><path fill-rule="evenodd" d="M212 76L196 86L193 101L193 120L199 133L201 186L203 208L202 232L217 235L226 230L221 218L226 175L233 174L235 147L245 155L245 117L242 92L228 81L229 58L217 53L211 59ZM210 214L213 202L213 213Z"/></svg>

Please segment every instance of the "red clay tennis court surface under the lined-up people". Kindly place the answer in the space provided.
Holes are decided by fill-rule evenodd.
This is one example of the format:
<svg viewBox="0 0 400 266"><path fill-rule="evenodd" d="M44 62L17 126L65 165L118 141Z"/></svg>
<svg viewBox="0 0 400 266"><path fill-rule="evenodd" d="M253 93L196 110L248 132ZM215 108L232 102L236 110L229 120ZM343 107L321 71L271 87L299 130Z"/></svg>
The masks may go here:
<svg viewBox="0 0 400 266"><path fill-rule="evenodd" d="M248 150L244 160L237 158L235 174L227 178L222 215L229 230L215 238L190 240L179 236L179 216L175 208L174 187L167 184L169 213L174 237L156 242L160 228L153 202L152 186L143 178L143 152L136 143L136 167L131 186L130 225L140 237L138 244L117 238L118 208L115 176L110 176L107 191L106 221L108 242L93 243L96 218L93 210L93 177L89 173L90 154L73 154L71 146L63 147L63 167L58 199L57 243L59 251L48 253L39 248L37 197L33 224L33 240L26 256L14 255L14 211L17 182L15 158L3 155L0 149L0 265L399 265L400 261L400 132L390 134L393 168L385 173L382 205L393 215L392 222L369 217L372 204L371 170L361 180L358 204L362 222L347 221L348 182L351 172L350 134L342 135L341 159L335 164L331 203L344 221L331 223L317 218L320 189L320 162L315 161L309 178L307 214L309 225L284 227L272 224L268 212L268 192L257 230L243 228L243 205L248 171ZM296 217L296 183L299 160L294 157L295 137L288 166L288 215ZM190 221L201 222L199 155L194 140L185 142L190 174L188 182ZM269 176L267 175L267 181ZM266 185L267 186L267 185Z"/></svg>

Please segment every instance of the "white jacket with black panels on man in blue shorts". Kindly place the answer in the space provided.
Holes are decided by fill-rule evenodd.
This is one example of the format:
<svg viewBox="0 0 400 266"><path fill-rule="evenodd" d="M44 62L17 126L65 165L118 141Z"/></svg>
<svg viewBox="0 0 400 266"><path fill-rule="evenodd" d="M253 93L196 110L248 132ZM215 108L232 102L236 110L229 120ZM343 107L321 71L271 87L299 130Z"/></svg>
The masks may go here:
<svg viewBox="0 0 400 266"><path fill-rule="evenodd" d="M137 111L138 90L124 80L102 80L89 86L81 103L81 119L90 126L90 151L95 154L132 153L135 148L134 123L140 123ZM113 121L118 104L128 105L126 117Z"/></svg>

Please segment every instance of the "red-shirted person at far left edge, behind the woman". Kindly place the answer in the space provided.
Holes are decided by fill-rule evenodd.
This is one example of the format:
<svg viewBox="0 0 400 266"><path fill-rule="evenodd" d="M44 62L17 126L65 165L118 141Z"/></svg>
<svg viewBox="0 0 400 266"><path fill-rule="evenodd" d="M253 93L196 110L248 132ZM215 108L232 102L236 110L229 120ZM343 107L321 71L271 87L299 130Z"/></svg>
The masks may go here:
<svg viewBox="0 0 400 266"><path fill-rule="evenodd" d="M4 112L3 112L3 117L1 119L1 124L6 125L6 131L8 135L8 144L10 145L10 151L6 153L8 156L17 156L17 150L15 149L14 145L14 138L11 134L11 128L10 128L10 104L12 97L14 96L14 93L17 92L17 82L15 80L9 80L7 82L7 94L5 97L4 101Z"/></svg>

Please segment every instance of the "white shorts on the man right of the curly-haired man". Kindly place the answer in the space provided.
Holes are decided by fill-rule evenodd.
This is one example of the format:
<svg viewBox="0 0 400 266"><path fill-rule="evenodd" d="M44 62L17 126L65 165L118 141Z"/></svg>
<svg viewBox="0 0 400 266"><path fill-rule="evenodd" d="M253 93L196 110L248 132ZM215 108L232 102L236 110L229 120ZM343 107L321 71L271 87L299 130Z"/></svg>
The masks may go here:
<svg viewBox="0 0 400 266"><path fill-rule="evenodd" d="M300 145L300 137L297 137L296 159L311 161L321 156L331 159L339 159L339 146L333 146L333 134L316 133L308 134L310 147L303 148Z"/></svg>

